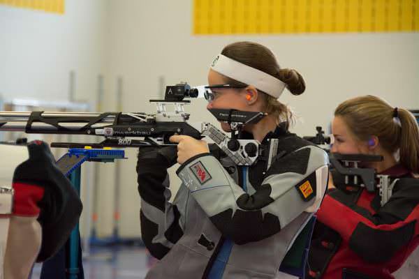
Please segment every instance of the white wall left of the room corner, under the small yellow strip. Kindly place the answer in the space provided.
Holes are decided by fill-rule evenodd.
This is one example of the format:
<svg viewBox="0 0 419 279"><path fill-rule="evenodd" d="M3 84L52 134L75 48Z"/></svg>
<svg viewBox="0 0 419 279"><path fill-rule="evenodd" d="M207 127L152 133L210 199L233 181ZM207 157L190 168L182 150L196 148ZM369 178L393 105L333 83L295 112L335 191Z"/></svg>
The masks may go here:
<svg viewBox="0 0 419 279"><path fill-rule="evenodd" d="M108 0L65 1L64 15L0 5L0 94L3 98L95 100L103 73Z"/></svg>

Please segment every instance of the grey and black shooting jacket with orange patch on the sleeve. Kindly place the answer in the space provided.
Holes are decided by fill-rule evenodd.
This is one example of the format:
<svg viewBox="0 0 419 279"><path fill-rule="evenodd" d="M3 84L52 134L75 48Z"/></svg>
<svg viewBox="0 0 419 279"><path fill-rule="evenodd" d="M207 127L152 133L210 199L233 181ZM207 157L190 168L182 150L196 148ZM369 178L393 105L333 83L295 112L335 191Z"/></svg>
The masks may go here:
<svg viewBox="0 0 419 279"><path fill-rule="evenodd" d="M270 169L215 152L190 158L177 169L183 183L172 203L165 165L139 155L142 239L161 259L146 278L274 278L318 209L328 156L281 126L262 144L271 138L279 145Z"/></svg>

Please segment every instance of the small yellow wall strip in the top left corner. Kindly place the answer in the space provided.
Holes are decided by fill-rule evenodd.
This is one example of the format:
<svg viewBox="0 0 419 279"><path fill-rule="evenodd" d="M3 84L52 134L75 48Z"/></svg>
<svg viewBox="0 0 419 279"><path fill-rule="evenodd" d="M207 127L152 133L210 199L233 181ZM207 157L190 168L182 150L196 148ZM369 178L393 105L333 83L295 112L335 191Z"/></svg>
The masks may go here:
<svg viewBox="0 0 419 279"><path fill-rule="evenodd" d="M0 4L17 8L43 10L47 13L64 14L65 0L0 0Z"/></svg>

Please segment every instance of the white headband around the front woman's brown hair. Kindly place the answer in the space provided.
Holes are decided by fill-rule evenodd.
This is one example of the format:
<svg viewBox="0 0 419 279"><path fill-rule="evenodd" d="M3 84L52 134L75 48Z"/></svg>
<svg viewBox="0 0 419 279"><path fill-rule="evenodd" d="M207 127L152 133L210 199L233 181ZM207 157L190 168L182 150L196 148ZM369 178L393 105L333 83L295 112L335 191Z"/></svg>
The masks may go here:
<svg viewBox="0 0 419 279"><path fill-rule="evenodd" d="M215 57L212 61L211 68L221 75L226 75L245 84L251 84L275 98L279 98L286 87L286 84L276 77L272 77L272 75L268 75L261 70L230 59L223 54Z"/></svg>

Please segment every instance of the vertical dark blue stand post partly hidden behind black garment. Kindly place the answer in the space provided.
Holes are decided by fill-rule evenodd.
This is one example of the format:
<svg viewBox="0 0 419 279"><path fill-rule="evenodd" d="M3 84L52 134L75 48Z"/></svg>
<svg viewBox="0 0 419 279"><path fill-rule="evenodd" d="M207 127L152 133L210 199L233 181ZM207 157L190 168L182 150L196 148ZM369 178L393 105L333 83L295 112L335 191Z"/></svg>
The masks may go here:
<svg viewBox="0 0 419 279"><path fill-rule="evenodd" d="M70 174L70 181L73 184L76 192L80 196L80 179L81 179L81 166L75 169ZM68 278L69 279L78 279L80 269L78 266L78 255L79 255L79 223L75 225L73 231L70 235L70 261L68 264Z"/></svg>

